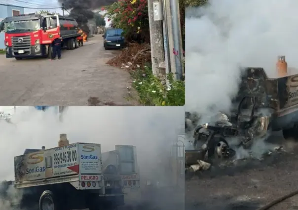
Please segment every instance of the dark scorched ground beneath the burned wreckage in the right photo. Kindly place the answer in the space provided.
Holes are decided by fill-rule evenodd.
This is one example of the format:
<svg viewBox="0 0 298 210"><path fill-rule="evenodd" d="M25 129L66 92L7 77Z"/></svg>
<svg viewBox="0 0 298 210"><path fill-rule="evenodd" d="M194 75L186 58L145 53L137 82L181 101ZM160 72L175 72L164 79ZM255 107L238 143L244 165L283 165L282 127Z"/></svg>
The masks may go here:
<svg viewBox="0 0 298 210"><path fill-rule="evenodd" d="M237 166L213 168L186 181L186 210L257 210L298 190L298 147ZM270 210L298 210L298 195Z"/></svg>

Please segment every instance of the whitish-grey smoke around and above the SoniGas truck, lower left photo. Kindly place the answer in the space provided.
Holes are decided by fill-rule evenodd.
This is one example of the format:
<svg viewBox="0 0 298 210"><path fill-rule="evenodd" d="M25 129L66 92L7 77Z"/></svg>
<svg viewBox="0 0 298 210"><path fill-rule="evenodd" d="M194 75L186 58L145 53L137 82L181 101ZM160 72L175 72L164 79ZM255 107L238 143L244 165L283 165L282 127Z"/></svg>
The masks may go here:
<svg viewBox="0 0 298 210"><path fill-rule="evenodd" d="M174 180L175 172L169 170L171 146L184 130L183 106L71 106L62 122L53 113L52 109L17 107L11 123L0 120L2 180L13 180L14 156L25 148L58 146L60 133L66 133L70 143L101 143L102 152L114 150L116 144L134 145L143 184L147 179Z"/></svg>

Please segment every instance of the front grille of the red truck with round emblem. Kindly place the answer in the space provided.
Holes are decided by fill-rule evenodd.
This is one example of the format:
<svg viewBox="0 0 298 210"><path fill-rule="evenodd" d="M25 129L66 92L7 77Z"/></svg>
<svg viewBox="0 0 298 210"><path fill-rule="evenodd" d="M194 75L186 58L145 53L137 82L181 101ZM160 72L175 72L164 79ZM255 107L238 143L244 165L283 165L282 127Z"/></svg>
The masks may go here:
<svg viewBox="0 0 298 210"><path fill-rule="evenodd" d="M12 43L12 52L18 55L19 50L24 51L22 54L30 54L31 53L31 37L27 36L15 36L11 38Z"/></svg>

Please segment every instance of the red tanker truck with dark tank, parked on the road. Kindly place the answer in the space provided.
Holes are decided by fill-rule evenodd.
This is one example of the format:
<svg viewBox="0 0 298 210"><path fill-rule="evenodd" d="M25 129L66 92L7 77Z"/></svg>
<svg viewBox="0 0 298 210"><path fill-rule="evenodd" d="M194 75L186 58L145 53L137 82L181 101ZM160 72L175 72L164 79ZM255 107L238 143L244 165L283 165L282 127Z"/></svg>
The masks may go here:
<svg viewBox="0 0 298 210"><path fill-rule="evenodd" d="M28 14L2 20L6 58L51 57L52 43L62 37L69 49L78 47L77 23L58 14Z"/></svg>

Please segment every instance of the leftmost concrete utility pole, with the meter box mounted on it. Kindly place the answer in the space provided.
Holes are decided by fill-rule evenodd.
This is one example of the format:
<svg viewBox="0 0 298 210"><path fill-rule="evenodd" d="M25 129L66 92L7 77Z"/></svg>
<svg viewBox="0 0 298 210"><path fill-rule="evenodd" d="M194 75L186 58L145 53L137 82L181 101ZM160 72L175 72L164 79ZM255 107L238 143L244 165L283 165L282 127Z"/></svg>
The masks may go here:
<svg viewBox="0 0 298 210"><path fill-rule="evenodd" d="M154 0L157 1L157 0ZM160 76L159 64L164 62L162 21L154 21L153 18L153 0L148 0L149 15L149 34L151 46L151 62L152 72L156 76Z"/></svg>

